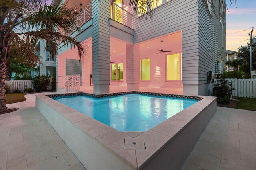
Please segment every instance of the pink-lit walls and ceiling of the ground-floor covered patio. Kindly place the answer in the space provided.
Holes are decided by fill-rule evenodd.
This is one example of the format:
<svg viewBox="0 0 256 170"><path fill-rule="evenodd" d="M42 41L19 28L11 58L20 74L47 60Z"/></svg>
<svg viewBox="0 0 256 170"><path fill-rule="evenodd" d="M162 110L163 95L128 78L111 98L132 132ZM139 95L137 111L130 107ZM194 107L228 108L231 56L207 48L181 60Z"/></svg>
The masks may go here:
<svg viewBox="0 0 256 170"><path fill-rule="evenodd" d="M158 53L161 49L161 40L163 40L163 50L172 52ZM83 86L90 85L90 74L92 73L92 41L84 41L87 46L86 57L82 60ZM140 59L150 58L150 81L140 81L142 87L166 87L182 88L180 81L166 81L166 55L182 53L182 33L177 32L165 37L158 37L150 41L138 44L140 46ZM58 56L58 76L66 75L66 59L79 59L77 49L69 49ZM123 63L123 81L111 81L114 86L126 86L126 43L111 37L110 40L110 61L114 63ZM114 64L111 63L111 64ZM110 71L111 71L110 64ZM70 68L72 69L72 68ZM180 69L182 62L180 61ZM180 73L181 75L182 73ZM111 75L111 72L110 72Z"/></svg>

